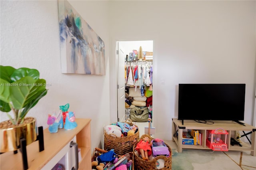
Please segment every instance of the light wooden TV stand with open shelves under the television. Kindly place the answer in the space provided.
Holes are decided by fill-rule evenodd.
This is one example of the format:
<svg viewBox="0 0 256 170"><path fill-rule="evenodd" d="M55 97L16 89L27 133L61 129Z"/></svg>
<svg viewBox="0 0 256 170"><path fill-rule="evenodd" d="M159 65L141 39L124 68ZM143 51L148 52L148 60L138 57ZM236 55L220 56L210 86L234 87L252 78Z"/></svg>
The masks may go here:
<svg viewBox="0 0 256 170"><path fill-rule="evenodd" d="M216 128L223 128L228 131L227 136L227 145L228 150L241 150L241 151L251 151L252 156L256 156L256 127L253 127L248 124L240 125L234 121L213 121L214 124L208 125L204 123L197 123L194 120L184 120L184 124L182 125L182 121L177 118L172 119L172 141L176 142L178 145L178 152L182 152L182 148L188 149L210 149L206 146L206 130L215 130ZM182 135L174 136L176 131L178 134L182 134L183 129L194 129L199 130L202 134L202 145L190 145L190 144L182 144ZM249 131L251 134L251 143L242 142L242 147L238 145L232 146L230 144L230 138L236 138L236 134L238 131Z"/></svg>

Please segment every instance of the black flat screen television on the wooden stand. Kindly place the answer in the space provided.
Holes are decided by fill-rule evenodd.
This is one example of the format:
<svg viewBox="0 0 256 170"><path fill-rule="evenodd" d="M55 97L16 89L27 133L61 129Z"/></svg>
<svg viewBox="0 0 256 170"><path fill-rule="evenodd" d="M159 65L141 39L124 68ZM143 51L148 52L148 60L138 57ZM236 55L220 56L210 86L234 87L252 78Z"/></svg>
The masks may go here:
<svg viewBox="0 0 256 170"><path fill-rule="evenodd" d="M244 120L245 84L179 84L178 120Z"/></svg>

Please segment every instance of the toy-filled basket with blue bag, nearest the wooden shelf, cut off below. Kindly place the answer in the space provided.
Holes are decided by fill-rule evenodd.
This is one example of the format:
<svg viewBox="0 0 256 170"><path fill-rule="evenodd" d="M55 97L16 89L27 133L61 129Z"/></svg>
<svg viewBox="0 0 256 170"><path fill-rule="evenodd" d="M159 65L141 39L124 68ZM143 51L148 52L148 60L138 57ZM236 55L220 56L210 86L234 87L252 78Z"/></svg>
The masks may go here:
<svg viewBox="0 0 256 170"><path fill-rule="evenodd" d="M95 148L92 156L92 170L134 170L133 152L118 155L113 150Z"/></svg>

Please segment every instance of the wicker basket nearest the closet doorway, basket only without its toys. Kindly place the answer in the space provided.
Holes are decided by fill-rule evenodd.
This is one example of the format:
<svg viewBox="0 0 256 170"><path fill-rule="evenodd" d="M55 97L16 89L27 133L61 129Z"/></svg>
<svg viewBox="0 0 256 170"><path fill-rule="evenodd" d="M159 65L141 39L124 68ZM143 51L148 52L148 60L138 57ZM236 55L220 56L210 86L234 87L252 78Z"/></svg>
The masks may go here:
<svg viewBox="0 0 256 170"><path fill-rule="evenodd" d="M130 119L127 119L125 123L128 123L130 126L134 125ZM138 127L136 126L136 128ZM139 128L132 136L118 138L112 135L113 134L107 134L104 130L104 150L114 149L114 152L119 155L132 152L133 145L137 142L138 138L140 138Z"/></svg>

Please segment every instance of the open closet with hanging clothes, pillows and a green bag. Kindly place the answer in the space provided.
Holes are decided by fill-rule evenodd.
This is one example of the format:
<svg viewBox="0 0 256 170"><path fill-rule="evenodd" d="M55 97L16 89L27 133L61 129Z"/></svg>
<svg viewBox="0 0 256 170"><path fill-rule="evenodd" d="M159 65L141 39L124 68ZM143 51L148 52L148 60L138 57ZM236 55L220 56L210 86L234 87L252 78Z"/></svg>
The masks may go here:
<svg viewBox="0 0 256 170"><path fill-rule="evenodd" d="M125 54L125 119L153 120L153 41L119 42Z"/></svg>

